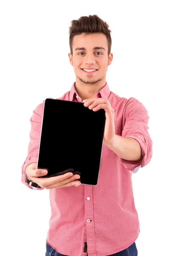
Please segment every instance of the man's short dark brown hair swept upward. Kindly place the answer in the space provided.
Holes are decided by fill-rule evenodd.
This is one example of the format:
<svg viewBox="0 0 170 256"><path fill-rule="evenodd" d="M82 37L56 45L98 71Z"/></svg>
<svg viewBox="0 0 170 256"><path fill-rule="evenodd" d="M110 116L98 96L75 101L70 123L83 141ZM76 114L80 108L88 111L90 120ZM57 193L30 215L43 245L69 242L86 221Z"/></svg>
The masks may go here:
<svg viewBox="0 0 170 256"><path fill-rule="evenodd" d="M97 15L82 16L78 20L72 20L69 27L69 44L71 55L73 55L73 39L75 35L85 33L85 35L93 33L102 33L108 41L108 56L111 53L111 30L108 29L108 23L99 18Z"/></svg>

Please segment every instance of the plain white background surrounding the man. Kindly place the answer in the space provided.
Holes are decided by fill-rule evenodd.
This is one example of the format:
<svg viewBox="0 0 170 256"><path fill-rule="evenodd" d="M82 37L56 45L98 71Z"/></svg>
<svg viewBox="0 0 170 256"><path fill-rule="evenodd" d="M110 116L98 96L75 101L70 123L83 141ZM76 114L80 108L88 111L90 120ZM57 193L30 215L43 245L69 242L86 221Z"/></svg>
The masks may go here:
<svg viewBox="0 0 170 256"><path fill-rule="evenodd" d="M49 190L34 191L21 182L29 120L43 99L71 89L75 73L68 61L68 27L71 20L94 14L112 30L110 90L135 97L150 116L153 157L132 175L141 230L138 256L170 255L168 2L0 2L0 255L45 256Z"/></svg>

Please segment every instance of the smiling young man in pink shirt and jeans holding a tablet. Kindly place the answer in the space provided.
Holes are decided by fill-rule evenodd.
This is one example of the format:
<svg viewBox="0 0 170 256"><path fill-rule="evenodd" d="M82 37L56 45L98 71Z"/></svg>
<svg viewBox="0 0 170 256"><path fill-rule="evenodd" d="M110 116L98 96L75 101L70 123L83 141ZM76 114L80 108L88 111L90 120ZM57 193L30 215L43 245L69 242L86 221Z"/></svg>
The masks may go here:
<svg viewBox="0 0 170 256"><path fill-rule="evenodd" d="M30 143L22 166L22 182L28 186L27 175L40 190L50 189L46 256L137 256L135 241L140 227L131 176L152 157L152 140L147 131L149 116L137 99L125 99L109 90L106 73L113 54L108 24L97 15L89 15L73 20L69 29L68 57L76 82L59 99L84 102L91 111L105 110L98 184L81 185L79 175L71 172L38 178L47 174L46 170L36 169L44 102L30 119ZM75 143L79 145L81 141Z"/></svg>

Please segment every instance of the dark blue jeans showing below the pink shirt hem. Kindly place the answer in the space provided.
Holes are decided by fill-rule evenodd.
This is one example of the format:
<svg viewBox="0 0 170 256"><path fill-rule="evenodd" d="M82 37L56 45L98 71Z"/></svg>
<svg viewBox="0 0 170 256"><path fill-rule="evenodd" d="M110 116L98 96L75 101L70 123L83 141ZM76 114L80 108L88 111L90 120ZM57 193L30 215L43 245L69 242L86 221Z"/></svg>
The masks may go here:
<svg viewBox="0 0 170 256"><path fill-rule="evenodd" d="M67 256L61 253L57 253L56 250L53 249L47 242L46 242L46 253L45 256ZM138 250L136 248L135 242L130 245L127 249L122 250L119 253L114 253L108 256L138 256Z"/></svg>

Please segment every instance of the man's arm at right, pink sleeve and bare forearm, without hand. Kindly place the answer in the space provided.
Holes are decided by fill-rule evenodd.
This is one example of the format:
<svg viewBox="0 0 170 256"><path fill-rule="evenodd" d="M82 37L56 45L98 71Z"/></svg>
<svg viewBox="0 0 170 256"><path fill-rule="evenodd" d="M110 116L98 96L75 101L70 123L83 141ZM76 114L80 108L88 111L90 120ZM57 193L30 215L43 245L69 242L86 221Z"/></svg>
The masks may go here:
<svg viewBox="0 0 170 256"><path fill-rule="evenodd" d="M136 173L152 157L153 142L148 133L149 116L142 102L133 97L128 99L124 115L121 136L115 135L107 146L117 154L127 171Z"/></svg>

